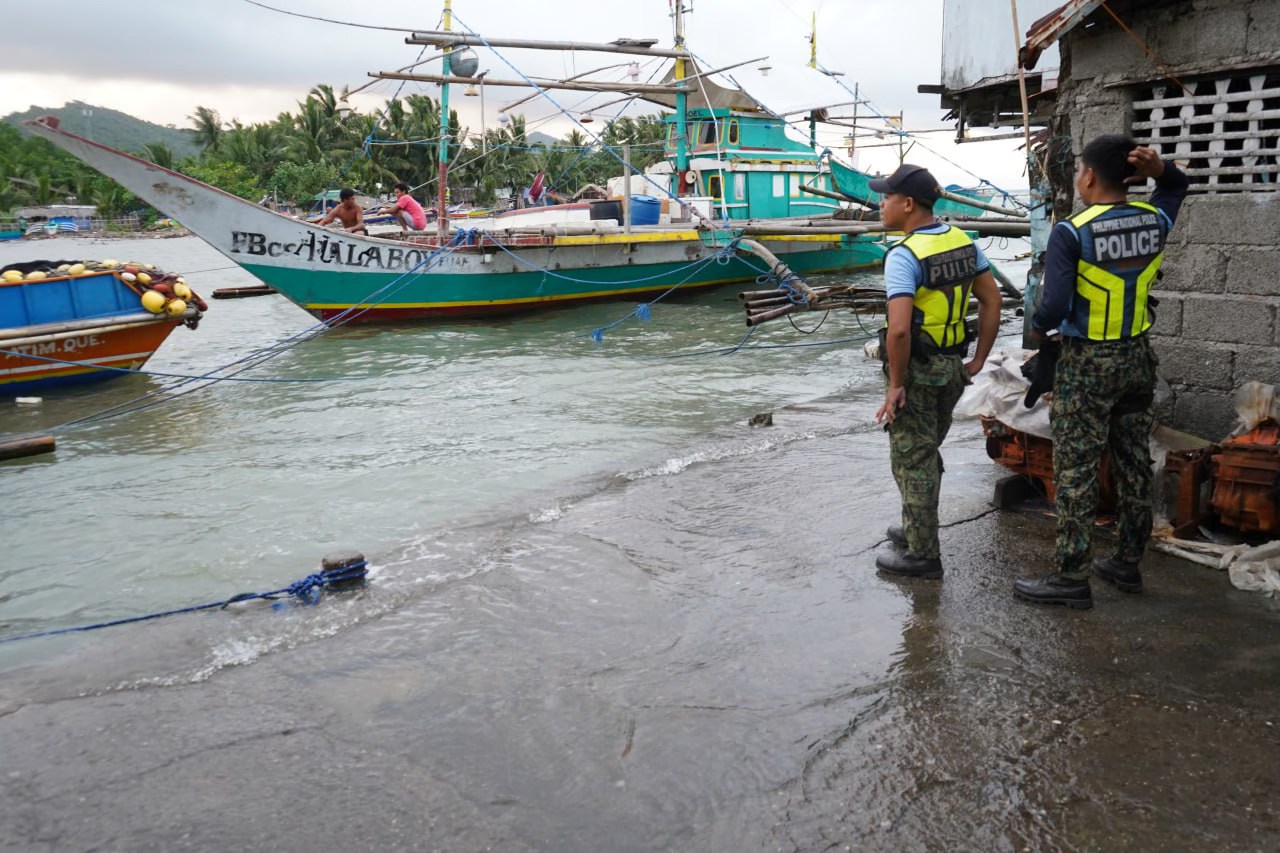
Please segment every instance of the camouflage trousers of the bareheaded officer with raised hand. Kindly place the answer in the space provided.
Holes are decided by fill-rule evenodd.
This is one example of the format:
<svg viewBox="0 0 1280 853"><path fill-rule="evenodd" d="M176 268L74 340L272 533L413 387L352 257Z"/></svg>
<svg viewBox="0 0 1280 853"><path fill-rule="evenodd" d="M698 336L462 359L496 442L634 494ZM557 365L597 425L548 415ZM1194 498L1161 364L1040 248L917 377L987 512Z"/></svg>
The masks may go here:
<svg viewBox="0 0 1280 853"><path fill-rule="evenodd" d="M1084 579L1093 562L1098 467L1111 451L1119 535L1115 556L1137 561L1151 535L1152 398L1156 353L1146 336L1091 343L1066 339L1053 379L1053 487L1057 567Z"/></svg>

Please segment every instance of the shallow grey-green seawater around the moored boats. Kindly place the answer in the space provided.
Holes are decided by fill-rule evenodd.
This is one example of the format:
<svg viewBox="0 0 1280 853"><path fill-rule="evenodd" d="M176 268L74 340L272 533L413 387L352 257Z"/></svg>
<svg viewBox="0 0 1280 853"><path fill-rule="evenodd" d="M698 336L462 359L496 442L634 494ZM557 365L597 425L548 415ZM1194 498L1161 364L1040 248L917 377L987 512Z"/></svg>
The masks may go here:
<svg viewBox="0 0 1280 853"><path fill-rule="evenodd" d="M52 255L154 263L183 272L206 297L255 283L196 238L0 247L0 261ZM79 689L204 679L396 613L442 585L495 569L518 575L520 557L538 553L532 543L547 535L540 530L580 505L643 494L666 512L692 497L685 483L694 479L698 498L712 501L707 511L646 524L655 537L687 523L714 539L756 506L744 505L744 467L869 429L881 383L860 342L870 321L849 314L817 330L819 316L773 321L730 352L746 333L736 293L750 287L677 293L654 305L649 321L622 323L603 342L591 330L634 305L349 327L241 374L264 382L180 393L200 383L138 375L49 392L38 406L0 401L0 433L54 430L59 441L56 455L0 465L0 635L279 589L333 551L358 549L372 565L369 590L317 608L259 603L175 616L150 624L147 635L163 639L142 646L129 640L136 628L0 644L0 672L38 670L35 680L59 692L65 674L37 665L74 670L91 642L111 649L111 663L84 665ZM279 296L210 300L200 328L177 329L147 370L204 374L312 324ZM137 407L166 388L178 394ZM774 428L746 424L785 407L792 415ZM59 428L120 409L129 411ZM694 469L724 476L708 483L690 476ZM804 484L795 488L760 496L759 511L769 500L799 498ZM749 569L750 555L742 560Z"/></svg>

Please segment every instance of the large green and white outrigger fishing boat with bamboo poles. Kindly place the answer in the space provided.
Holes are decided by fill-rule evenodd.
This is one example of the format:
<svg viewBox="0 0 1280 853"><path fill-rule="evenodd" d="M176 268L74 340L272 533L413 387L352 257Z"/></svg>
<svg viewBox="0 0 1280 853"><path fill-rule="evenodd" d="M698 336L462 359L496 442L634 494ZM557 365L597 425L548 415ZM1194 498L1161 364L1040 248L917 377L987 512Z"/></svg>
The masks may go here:
<svg viewBox="0 0 1280 853"><path fill-rule="evenodd" d="M621 40L573 44L572 50L640 54L672 60L659 85L535 81L540 88L617 91L669 106L667 159L622 179L621 216L595 215L595 205L557 205L483 219L439 216L434 233L384 238L334 232L268 210L189 177L68 133L54 118L27 128L180 220L229 260L323 320L376 321L483 316L585 300L643 298L673 287L695 288L764 277L788 278L877 266L886 245L878 234L829 228L838 202L831 173L812 147L786 137L777 115L740 88L716 85L684 47L676 5L676 46ZM559 42L481 38L449 28L415 32L408 44L442 51L440 74L381 72L383 79L440 85L448 117L449 85L518 86L475 74L461 61L466 47L566 50ZM754 60L753 60L754 61ZM453 65L457 65L454 68ZM439 201L448 210L447 132L440 133ZM620 168L620 170L623 170ZM662 196L666 213L653 224L631 215L630 184ZM648 206L640 196L641 206ZM819 227L806 223L819 219ZM774 229L776 225L776 229ZM745 240L749 236L750 240Z"/></svg>

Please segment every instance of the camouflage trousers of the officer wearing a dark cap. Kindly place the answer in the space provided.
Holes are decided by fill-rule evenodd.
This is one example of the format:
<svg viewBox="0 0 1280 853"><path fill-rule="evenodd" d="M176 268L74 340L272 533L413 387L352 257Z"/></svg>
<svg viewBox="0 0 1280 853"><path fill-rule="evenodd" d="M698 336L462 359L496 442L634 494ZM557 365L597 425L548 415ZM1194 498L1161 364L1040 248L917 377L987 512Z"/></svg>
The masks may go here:
<svg viewBox="0 0 1280 853"><path fill-rule="evenodd" d="M906 405L888 426L888 461L902 496L902 533L908 551L918 557L941 557L938 492L942 453L938 446L951 429L968 377L960 356L911 360L906 374Z"/></svg>

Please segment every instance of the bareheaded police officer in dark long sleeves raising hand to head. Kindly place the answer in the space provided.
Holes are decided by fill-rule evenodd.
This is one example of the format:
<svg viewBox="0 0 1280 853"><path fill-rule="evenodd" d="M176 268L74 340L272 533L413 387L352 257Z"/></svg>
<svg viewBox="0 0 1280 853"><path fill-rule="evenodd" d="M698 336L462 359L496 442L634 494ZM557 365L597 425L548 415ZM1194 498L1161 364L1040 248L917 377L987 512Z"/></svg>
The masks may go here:
<svg viewBox="0 0 1280 853"><path fill-rule="evenodd" d="M1129 184L1156 179L1151 201L1129 201ZM1093 574L1123 592L1142 592L1138 561L1151 535L1148 437L1156 356L1151 287L1165 241L1187 197L1187 175L1152 150L1119 134L1080 152L1075 192L1085 209L1050 234L1033 333L1062 333L1050 420L1057 498L1057 570L1014 581L1014 594L1042 605L1093 606L1091 534L1098 467L1111 451L1119 502L1115 553Z"/></svg>

